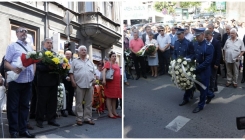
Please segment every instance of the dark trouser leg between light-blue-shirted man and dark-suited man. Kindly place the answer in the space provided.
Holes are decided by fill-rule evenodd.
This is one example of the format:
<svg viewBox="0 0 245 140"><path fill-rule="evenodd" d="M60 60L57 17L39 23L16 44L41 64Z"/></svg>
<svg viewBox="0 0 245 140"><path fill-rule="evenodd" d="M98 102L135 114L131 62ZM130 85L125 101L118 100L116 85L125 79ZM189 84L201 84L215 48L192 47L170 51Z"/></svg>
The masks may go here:
<svg viewBox="0 0 245 140"><path fill-rule="evenodd" d="M32 83L30 116L36 115L36 106L37 106L37 86L34 83Z"/></svg>

